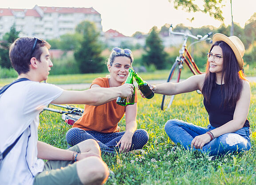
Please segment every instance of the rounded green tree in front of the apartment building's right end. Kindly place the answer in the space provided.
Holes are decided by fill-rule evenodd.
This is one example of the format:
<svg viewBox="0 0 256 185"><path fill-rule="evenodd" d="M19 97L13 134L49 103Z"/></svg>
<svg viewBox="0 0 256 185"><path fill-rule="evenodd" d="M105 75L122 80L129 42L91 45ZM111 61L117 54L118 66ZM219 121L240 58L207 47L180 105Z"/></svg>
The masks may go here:
<svg viewBox="0 0 256 185"><path fill-rule="evenodd" d="M102 45L99 42L100 33L96 30L95 24L83 21L77 25L76 32L82 35L80 46L74 52L80 72L102 72L104 69L103 58L100 56Z"/></svg>

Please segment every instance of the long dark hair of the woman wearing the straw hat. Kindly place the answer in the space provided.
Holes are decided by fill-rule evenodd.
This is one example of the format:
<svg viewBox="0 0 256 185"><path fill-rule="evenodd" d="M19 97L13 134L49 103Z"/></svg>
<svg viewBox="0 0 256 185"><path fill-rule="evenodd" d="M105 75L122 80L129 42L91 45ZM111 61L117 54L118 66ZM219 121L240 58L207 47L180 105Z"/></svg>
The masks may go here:
<svg viewBox="0 0 256 185"><path fill-rule="evenodd" d="M239 65L236 59L236 56L230 46L226 42L217 41L215 42L211 49L214 46L220 46L223 53L223 68L221 75L221 84L224 81L224 106L230 105L235 106L237 100L239 100L243 88L243 80L246 80L244 73L239 69ZM210 64L207 62L206 66L206 77L204 80L204 86L202 89L202 94L204 95L205 100L209 103L212 87L216 82L216 74L210 72ZM223 92L223 91L221 91Z"/></svg>

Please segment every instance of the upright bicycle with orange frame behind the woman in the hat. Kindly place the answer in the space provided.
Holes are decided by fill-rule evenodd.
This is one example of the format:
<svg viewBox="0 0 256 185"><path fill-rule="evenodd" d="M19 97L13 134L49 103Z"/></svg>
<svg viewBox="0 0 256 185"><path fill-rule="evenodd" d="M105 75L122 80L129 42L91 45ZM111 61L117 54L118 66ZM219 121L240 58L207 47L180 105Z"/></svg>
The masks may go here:
<svg viewBox="0 0 256 185"><path fill-rule="evenodd" d="M209 38L209 36L212 35L212 32L209 32L209 33L205 34L204 36L201 36L201 35L195 36L195 35L191 35L189 33L175 32L175 31L172 31L172 29L173 29L173 27L171 25L170 28L169 28L169 36L171 34L183 35L184 36L184 41L183 41L183 44L182 44L181 49L179 51L179 56L176 57L176 60L175 60L174 64L172 65L172 68L171 68L170 74L168 76L167 82L170 82L173 79L173 77L176 77L175 82L180 81L180 73L181 73L181 70L183 68L183 64L186 64L188 66L188 68L193 73L193 75L202 74L203 72L201 72L199 70L198 66L196 65L196 62L192 58L192 55L188 51L187 41L188 41L189 37L192 38L192 39L196 39L197 41L192 42L190 44L190 46L192 46L193 44L195 44L197 42L211 40ZM163 99L162 99L162 103L161 103L161 110L164 110L164 107L170 108L170 106L172 105L172 101L174 99L174 96L175 95L172 95L172 96L163 95Z"/></svg>

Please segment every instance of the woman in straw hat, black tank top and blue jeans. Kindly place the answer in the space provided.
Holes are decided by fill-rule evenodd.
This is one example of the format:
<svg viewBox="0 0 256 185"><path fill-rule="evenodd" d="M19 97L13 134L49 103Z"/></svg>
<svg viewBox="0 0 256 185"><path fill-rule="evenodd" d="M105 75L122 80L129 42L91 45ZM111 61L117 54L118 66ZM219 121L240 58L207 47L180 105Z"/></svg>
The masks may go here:
<svg viewBox="0 0 256 185"><path fill-rule="evenodd" d="M151 85L155 93L165 95L199 89L209 115L208 127L171 119L164 129L174 143L211 156L249 150L250 85L242 70L244 44L236 36L220 33L213 35L212 41L205 74L180 83Z"/></svg>

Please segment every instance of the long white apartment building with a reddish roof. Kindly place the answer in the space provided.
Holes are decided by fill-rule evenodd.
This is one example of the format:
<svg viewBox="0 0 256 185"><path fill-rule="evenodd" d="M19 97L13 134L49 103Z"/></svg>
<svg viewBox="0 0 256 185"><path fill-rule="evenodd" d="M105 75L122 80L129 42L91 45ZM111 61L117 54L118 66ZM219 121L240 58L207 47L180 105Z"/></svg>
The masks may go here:
<svg viewBox="0 0 256 185"><path fill-rule="evenodd" d="M55 39L74 33L76 25L88 20L102 33L101 15L94 8L41 7L32 9L0 8L0 39L13 23L20 36Z"/></svg>

